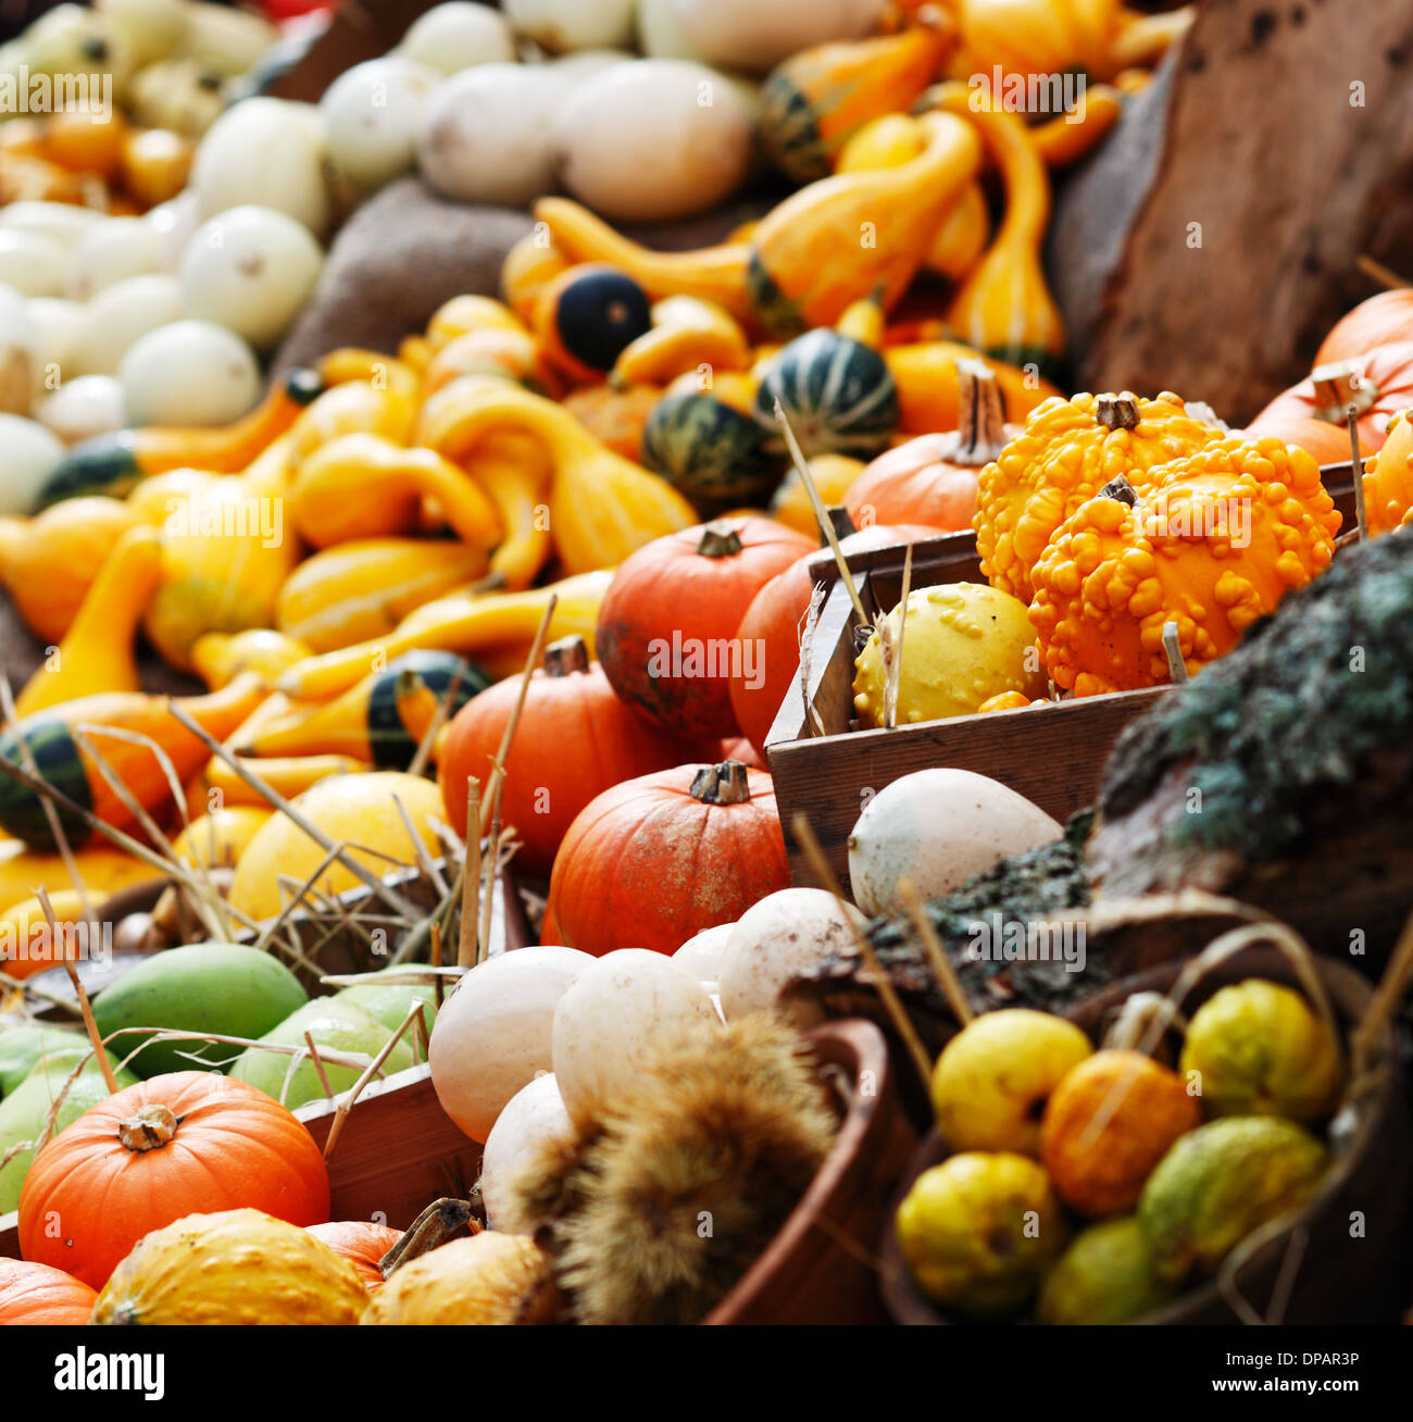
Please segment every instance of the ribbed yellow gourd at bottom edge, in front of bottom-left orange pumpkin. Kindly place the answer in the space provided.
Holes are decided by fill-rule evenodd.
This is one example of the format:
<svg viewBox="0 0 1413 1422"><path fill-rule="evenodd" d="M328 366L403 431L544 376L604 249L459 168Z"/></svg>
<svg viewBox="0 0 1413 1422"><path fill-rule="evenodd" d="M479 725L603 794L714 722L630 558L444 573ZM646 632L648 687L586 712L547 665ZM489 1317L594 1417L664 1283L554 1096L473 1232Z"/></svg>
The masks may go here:
<svg viewBox="0 0 1413 1422"><path fill-rule="evenodd" d="M355 1324L358 1270L260 1210L188 1214L144 1234L102 1287L95 1324Z"/></svg>

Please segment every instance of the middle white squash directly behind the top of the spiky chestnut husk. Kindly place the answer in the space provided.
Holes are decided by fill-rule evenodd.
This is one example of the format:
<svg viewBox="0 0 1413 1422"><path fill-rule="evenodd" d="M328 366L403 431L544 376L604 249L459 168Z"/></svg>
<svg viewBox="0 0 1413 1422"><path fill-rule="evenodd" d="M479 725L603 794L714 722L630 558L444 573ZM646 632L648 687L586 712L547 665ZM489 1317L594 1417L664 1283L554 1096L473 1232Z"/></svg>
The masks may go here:
<svg viewBox="0 0 1413 1422"><path fill-rule="evenodd" d="M596 958L554 1008L553 1065L579 1130L628 1086L644 1049L670 1022L715 1022L702 984L662 953L618 948Z"/></svg>

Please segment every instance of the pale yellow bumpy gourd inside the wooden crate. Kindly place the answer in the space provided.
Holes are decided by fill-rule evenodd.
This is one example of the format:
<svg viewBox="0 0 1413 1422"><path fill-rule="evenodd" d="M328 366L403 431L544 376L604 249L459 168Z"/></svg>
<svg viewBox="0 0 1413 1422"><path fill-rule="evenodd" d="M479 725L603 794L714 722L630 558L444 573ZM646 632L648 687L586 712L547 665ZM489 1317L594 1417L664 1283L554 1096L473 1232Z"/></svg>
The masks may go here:
<svg viewBox="0 0 1413 1422"><path fill-rule="evenodd" d="M897 647L903 619L884 620ZM883 624L854 663L854 710L864 725L884 724L888 663ZM897 725L971 715L1002 693L1045 695L1035 629L1025 604L984 583L941 583L908 596L898 677Z"/></svg>

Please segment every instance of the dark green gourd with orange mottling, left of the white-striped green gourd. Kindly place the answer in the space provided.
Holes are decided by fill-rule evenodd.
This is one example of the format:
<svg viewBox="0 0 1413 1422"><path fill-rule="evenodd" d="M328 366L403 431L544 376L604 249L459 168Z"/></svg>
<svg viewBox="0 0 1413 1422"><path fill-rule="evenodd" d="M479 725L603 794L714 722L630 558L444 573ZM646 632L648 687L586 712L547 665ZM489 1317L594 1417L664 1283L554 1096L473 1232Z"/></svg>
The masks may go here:
<svg viewBox="0 0 1413 1422"><path fill-rule="evenodd" d="M652 407L643 462L706 512L753 503L779 478L761 425L705 391L678 391Z"/></svg>

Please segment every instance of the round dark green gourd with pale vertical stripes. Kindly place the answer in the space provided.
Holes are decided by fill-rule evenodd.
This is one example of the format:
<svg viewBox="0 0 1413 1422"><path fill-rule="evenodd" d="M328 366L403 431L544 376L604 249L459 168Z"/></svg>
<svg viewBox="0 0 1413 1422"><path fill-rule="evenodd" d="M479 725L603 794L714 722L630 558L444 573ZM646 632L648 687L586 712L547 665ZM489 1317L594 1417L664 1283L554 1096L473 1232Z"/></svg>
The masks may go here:
<svg viewBox="0 0 1413 1422"><path fill-rule="evenodd" d="M871 459L898 427L898 390L883 357L829 327L797 336L766 367L755 414L769 448L783 448L776 401L806 459Z"/></svg>

